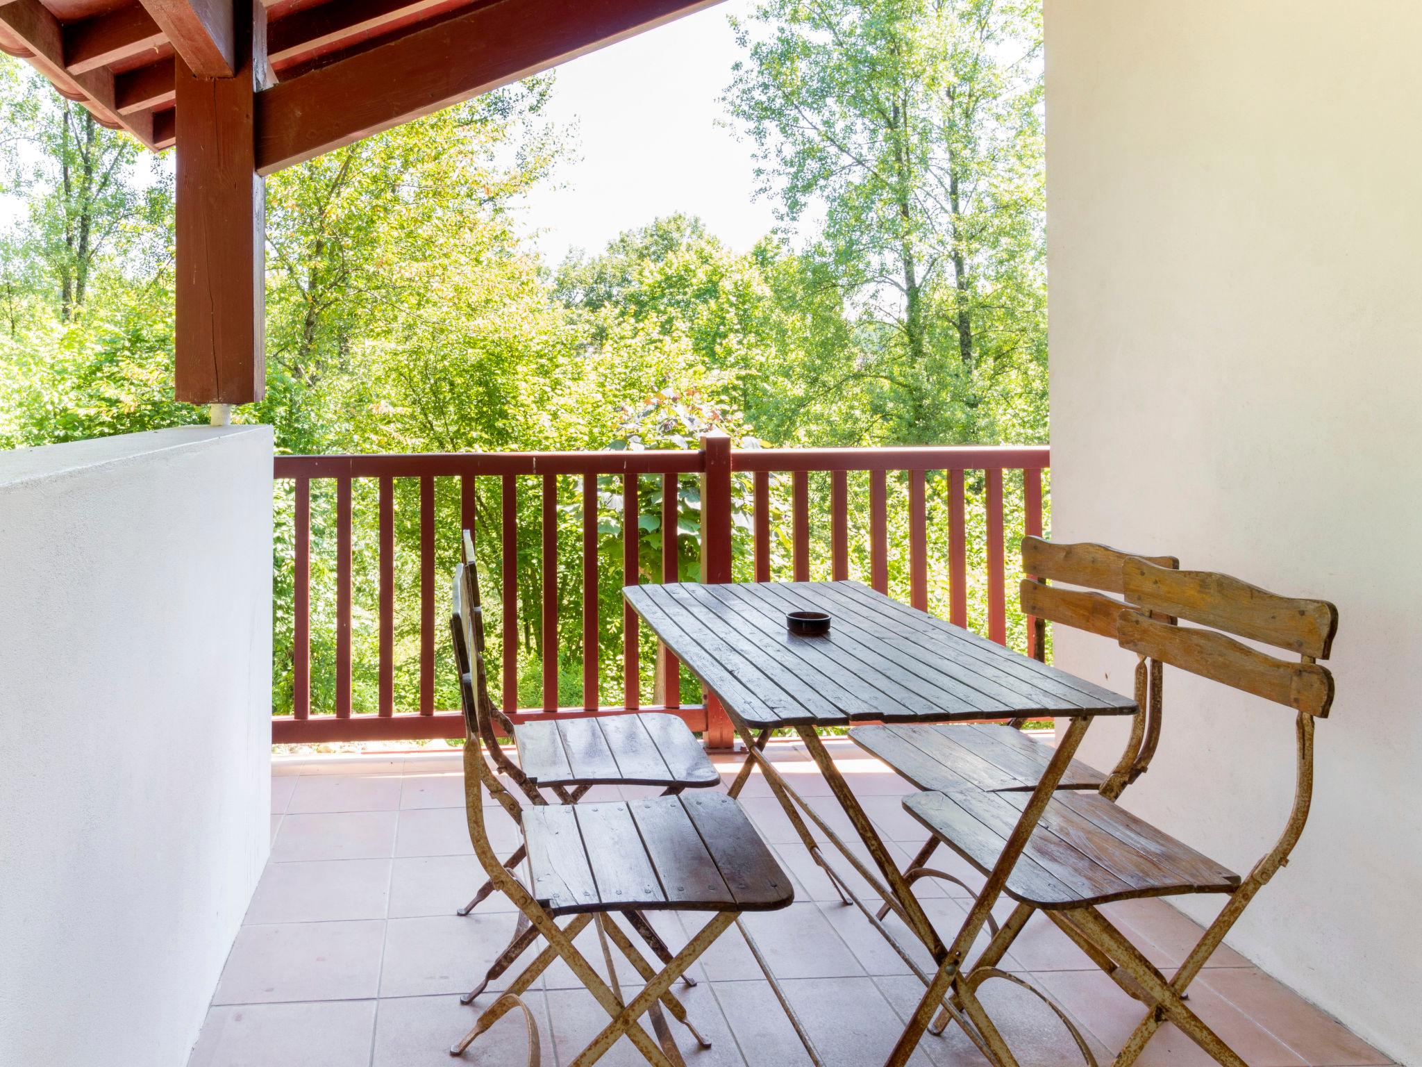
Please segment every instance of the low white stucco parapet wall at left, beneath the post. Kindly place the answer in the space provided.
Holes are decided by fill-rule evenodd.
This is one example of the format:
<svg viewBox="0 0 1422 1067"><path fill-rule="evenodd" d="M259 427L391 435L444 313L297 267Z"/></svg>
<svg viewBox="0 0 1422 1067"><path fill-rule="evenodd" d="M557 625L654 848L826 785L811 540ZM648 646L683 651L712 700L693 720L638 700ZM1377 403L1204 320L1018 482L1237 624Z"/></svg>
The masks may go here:
<svg viewBox="0 0 1422 1067"><path fill-rule="evenodd" d="M0 1063L183 1067L270 706L269 427L0 452Z"/></svg>

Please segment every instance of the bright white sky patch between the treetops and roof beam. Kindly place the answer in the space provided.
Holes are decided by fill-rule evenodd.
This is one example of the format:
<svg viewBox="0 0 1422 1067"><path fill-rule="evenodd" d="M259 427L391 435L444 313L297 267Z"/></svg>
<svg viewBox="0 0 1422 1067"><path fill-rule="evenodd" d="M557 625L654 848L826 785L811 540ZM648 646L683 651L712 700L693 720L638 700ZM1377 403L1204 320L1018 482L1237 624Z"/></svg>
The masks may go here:
<svg viewBox="0 0 1422 1067"><path fill-rule="evenodd" d="M735 250L771 230L769 201L752 199L751 144L721 104L739 55L727 16L749 9L715 4L557 68L550 115L577 124L579 158L525 211L549 265L675 211Z"/></svg>

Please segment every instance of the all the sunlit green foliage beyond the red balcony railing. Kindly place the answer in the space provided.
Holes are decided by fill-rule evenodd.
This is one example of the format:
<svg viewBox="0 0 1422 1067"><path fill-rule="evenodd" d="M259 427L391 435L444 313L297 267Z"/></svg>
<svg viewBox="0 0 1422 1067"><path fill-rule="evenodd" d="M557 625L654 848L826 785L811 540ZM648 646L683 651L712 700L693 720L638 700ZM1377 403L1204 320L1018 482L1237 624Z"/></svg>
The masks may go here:
<svg viewBox="0 0 1422 1067"><path fill-rule="evenodd" d="M1044 441L1045 270L1039 16L1027 0L764 0L738 27L729 115L757 147L782 226L748 250L693 215L630 229L556 269L515 225L556 175L567 131L539 75L267 179L267 394L236 413L296 454ZM0 447L203 421L172 400L172 179L0 57ZM407 484L408 481L408 484ZM555 481L556 619L542 617L540 494L515 504L503 589L498 479L474 491L491 659L518 642L516 699L582 694L584 487ZM638 566L697 573L700 487L602 478L602 699L621 694L623 522ZM850 565L867 572L867 479L850 478ZM985 625L983 485L968 498L970 622ZM754 569L752 485L735 479L738 578ZM353 704L377 706L378 492L353 487ZM890 589L906 595L907 487L890 482ZM418 706L418 479L394 494L395 704ZM930 599L946 609L948 485L929 478ZM1008 512L1022 487L1008 478ZM809 479L812 573L828 576L829 481ZM435 479L437 573L469 504ZM276 494L277 708L292 704L293 495ZM670 512L670 514L668 514ZM771 478L775 576L792 566L789 478ZM1011 518L1008 529L1020 526ZM1008 546L1008 552L1014 545ZM334 492L311 487L311 708L334 706ZM508 635L503 605L516 596ZM1014 640L1022 622L1010 615ZM653 646L641 635L644 694ZM437 706L456 694L437 642ZM684 679L690 691L691 680ZM515 694L509 694L509 701Z"/></svg>

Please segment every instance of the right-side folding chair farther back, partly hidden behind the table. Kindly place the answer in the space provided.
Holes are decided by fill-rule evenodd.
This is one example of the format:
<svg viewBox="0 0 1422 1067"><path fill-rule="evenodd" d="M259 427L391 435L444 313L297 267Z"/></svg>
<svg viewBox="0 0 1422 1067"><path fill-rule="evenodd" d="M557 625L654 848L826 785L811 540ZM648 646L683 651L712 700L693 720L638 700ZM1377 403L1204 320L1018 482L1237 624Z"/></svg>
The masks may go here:
<svg viewBox="0 0 1422 1067"><path fill-rule="evenodd" d="M1116 640L1116 616L1125 603L1106 593L1123 592L1122 568L1128 559L1146 559L1166 568L1179 568L1175 556L1135 556L1105 545L1054 543L1042 538L1022 538L1024 578L1020 589L1022 613L1031 616L1035 627L1032 654L1045 662L1047 623L1058 623ZM1048 582L1061 582L1076 589L1065 589ZM1096 790L1115 800L1121 791L1150 765L1160 740L1162 673L1159 662L1145 656L1136 663L1135 696L1140 710L1130 720L1130 734L1121 758L1111 774L1072 760L1062 775L1059 790ZM879 757L903 778L920 790L954 791L977 787L988 791L1025 792L1038 782L1047 768L1051 750L1021 733L1027 718L998 723L943 723L857 726L849 740ZM929 866L940 841L930 835L923 848L904 868L904 879L912 885L920 878L936 878L963 885L961 879ZM966 885L963 885L967 889ZM883 919L889 905L879 911ZM1021 916L1025 923L1030 916ZM997 933L995 920L988 916L990 929ZM940 1017L936 1029L946 1021Z"/></svg>

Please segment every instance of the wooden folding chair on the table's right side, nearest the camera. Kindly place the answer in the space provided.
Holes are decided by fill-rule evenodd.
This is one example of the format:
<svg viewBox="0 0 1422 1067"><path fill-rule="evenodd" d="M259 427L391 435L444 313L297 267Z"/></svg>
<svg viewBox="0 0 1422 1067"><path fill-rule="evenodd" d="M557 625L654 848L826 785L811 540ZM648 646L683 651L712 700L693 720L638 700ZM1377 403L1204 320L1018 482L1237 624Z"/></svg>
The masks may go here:
<svg viewBox="0 0 1422 1067"><path fill-rule="evenodd" d="M1303 834L1313 794L1314 720L1328 714L1334 697L1332 676L1315 660L1328 657L1338 612L1325 600L1278 596L1227 575L1170 570L1140 559L1126 561L1123 590L1132 607L1118 616L1122 647L1294 708L1297 781L1288 821L1274 846L1240 878L1103 795L1058 791L1047 801L1001 888L1020 905L1042 909L1126 993L1146 1004L1145 1019L1116 1056L1116 1067L1133 1063L1165 1021L1175 1023L1216 1061L1243 1067L1240 1056L1190 1010L1185 994ZM1170 617L1199 626L1173 626L1166 622ZM1287 649L1300 659L1270 656L1234 637ZM1021 798L1020 792L937 791L909 797L904 808L987 874L1017 825ZM990 886L994 881L990 878ZM991 893L984 889L974 911L990 908L995 892L995 886ZM1175 975L1166 977L1101 913L1099 905L1180 893L1221 893L1226 901ZM956 945L971 945L975 936L966 925ZM1011 977L997 963L1014 936L1015 929L1007 923L970 970L958 967L954 957L940 967L890 1064L907 1060L944 994L963 1009L1003 1067L1017 1064L977 999L985 979ZM1011 980L1021 984L1020 979ZM1095 1064L1086 1043L1062 1019L1086 1061Z"/></svg>

